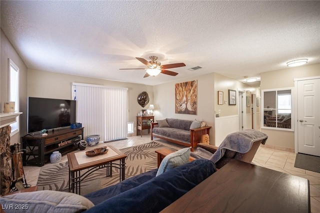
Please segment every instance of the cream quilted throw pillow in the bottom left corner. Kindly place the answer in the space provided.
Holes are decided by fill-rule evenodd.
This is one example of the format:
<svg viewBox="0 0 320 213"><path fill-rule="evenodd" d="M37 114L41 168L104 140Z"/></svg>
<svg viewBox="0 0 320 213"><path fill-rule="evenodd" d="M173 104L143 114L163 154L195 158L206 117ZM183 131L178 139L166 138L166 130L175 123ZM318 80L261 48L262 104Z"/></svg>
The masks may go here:
<svg viewBox="0 0 320 213"><path fill-rule="evenodd" d="M2 206L10 206L10 204L13 206L25 206L27 212L80 212L94 206L84 196L53 190L1 196L1 204Z"/></svg>

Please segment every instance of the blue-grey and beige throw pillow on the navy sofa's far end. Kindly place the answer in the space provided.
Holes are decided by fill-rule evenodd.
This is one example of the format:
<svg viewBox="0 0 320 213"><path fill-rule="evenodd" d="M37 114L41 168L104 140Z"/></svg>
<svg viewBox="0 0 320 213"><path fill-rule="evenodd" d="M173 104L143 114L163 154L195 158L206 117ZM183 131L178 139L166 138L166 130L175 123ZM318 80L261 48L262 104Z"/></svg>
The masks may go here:
<svg viewBox="0 0 320 213"><path fill-rule="evenodd" d="M174 167L189 162L190 148L191 147L181 148L180 150L166 155L161 161L155 176L160 175L163 172L168 171Z"/></svg>

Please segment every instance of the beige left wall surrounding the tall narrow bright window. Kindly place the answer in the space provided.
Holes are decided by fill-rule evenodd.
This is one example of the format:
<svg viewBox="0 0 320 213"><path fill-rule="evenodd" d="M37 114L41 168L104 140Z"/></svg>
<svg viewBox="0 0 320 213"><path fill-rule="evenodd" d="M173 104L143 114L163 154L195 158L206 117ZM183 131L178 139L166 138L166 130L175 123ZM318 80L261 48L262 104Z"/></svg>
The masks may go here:
<svg viewBox="0 0 320 213"><path fill-rule="evenodd" d="M23 112L20 116L20 131L11 136L10 142L11 144L20 142L20 136L26 134L26 125L23 123L26 122L26 74L27 68L18 55L18 53L13 48L10 41L5 36L4 32L1 29L1 56L0 56L0 109L3 111L3 102L8 101L8 58L19 67L19 111Z"/></svg>

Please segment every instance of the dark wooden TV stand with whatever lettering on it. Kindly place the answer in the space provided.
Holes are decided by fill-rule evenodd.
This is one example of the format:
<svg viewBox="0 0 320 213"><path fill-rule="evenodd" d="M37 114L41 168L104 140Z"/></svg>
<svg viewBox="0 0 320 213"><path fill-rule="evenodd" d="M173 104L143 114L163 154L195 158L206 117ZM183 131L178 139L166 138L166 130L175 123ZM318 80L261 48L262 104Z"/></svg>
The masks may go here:
<svg viewBox="0 0 320 213"><path fill-rule="evenodd" d="M27 134L22 137L22 148L26 151L22 154L23 165L32 164L44 165L49 161L53 151L61 154L77 149L75 142L83 139L83 127L81 128L61 128L49 131L48 135Z"/></svg>

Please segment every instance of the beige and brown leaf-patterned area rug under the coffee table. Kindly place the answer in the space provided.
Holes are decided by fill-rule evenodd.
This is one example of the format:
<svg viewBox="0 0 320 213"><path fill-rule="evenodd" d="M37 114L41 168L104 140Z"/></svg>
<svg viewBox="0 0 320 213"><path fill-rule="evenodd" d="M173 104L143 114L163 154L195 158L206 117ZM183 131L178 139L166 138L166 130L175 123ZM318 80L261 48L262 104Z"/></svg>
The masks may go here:
<svg viewBox="0 0 320 213"><path fill-rule="evenodd" d="M154 151L158 148L174 150L171 147L154 141L120 149L127 155L125 158L125 178L156 168L157 155ZM82 170L81 173L84 173L84 171ZM67 161L49 164L45 168L41 168L39 172L37 190L68 191L68 175ZM98 169L81 181L81 195L116 184L117 182L119 182L119 169L112 168L112 177L106 177L105 168Z"/></svg>

